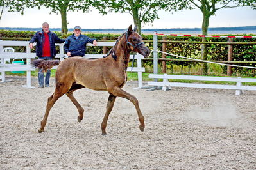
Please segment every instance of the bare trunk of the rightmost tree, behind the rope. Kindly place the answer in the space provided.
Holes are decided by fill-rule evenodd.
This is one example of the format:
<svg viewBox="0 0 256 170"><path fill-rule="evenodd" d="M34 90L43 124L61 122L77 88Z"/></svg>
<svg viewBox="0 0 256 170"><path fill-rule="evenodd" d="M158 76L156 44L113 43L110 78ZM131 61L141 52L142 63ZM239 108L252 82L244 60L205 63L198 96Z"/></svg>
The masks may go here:
<svg viewBox="0 0 256 170"><path fill-rule="evenodd" d="M208 35L208 27L209 27L209 19L210 16L208 15L207 12L203 12L203 24L202 24L202 35ZM205 42L206 38L203 37L202 38L202 42ZM202 44L201 45L201 59L203 60L207 60L207 45L206 44ZM203 73L203 75L207 75L207 63L202 63L201 64L201 73Z"/></svg>

